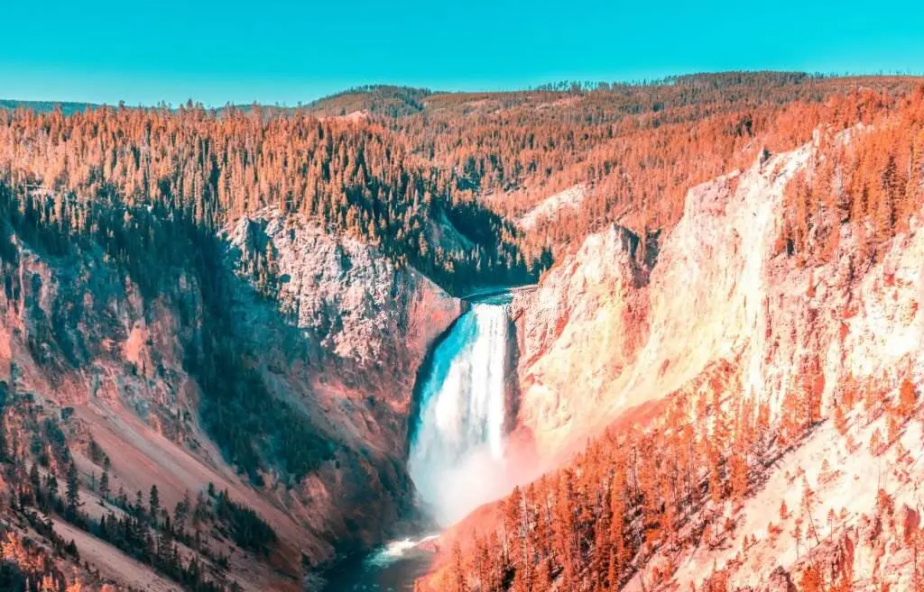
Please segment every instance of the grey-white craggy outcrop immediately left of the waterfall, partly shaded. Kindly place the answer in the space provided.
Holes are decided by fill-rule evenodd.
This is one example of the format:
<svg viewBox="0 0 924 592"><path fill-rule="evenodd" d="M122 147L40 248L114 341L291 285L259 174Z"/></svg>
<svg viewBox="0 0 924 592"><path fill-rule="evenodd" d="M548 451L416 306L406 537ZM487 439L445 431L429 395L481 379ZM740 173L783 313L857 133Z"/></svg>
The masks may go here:
<svg viewBox="0 0 924 592"><path fill-rule="evenodd" d="M240 337L263 351L270 373L298 376L286 392L310 386L339 437L399 460L417 370L461 301L366 243L269 210L238 220L228 241L249 287L247 254L269 248L275 262L272 306L238 292Z"/></svg>

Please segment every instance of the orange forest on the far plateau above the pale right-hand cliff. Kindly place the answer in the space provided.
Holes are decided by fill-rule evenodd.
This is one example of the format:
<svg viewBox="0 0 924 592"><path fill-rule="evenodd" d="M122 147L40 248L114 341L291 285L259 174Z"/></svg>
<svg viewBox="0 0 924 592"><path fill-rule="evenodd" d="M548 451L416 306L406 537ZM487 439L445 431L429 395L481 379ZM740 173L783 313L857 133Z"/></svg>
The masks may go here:
<svg viewBox="0 0 924 592"><path fill-rule="evenodd" d="M409 153L452 174L456 191L480 195L518 219L557 191L587 187L580 207L529 229L530 253L574 245L617 222L644 235L680 218L687 189L749 166L763 151L870 124L898 107L913 78L726 73L647 84L566 83L516 93L416 93L419 111L376 116L402 89L357 89L319 112L365 110L404 138ZM363 99L359 101L358 97ZM352 111L351 111L352 110Z"/></svg>

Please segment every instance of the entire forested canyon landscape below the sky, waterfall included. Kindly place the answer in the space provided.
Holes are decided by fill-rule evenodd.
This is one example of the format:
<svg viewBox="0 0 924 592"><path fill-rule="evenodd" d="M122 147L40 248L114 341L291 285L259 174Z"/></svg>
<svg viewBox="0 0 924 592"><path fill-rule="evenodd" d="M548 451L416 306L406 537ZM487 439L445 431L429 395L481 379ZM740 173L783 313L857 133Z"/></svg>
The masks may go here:
<svg viewBox="0 0 924 592"><path fill-rule="evenodd" d="M922 204L915 77L0 111L0 578L917 592Z"/></svg>

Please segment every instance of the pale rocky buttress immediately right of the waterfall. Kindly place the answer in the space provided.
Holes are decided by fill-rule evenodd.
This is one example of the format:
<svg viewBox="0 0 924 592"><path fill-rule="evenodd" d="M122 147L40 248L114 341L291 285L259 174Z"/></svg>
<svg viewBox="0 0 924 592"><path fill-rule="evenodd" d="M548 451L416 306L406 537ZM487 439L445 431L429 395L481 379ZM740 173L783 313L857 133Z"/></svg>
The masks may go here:
<svg viewBox="0 0 924 592"><path fill-rule="evenodd" d="M591 235L536 290L515 294L518 437L534 437L541 456L584 432L646 340L650 270L638 249L638 237L611 227Z"/></svg>

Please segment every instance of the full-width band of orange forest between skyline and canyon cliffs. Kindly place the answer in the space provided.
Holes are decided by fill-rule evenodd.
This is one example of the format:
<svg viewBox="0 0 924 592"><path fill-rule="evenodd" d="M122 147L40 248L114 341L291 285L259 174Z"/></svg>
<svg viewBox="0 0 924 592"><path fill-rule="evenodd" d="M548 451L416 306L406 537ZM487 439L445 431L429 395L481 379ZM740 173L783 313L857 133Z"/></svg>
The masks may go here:
<svg viewBox="0 0 924 592"><path fill-rule="evenodd" d="M51 218L104 197L216 230L274 207L459 292L536 278L611 222L670 228L693 184L795 148L822 124L869 124L917 84L725 73L506 93L364 87L298 109L18 109L0 112L0 172L54 202ZM580 207L517 228L576 184L588 190Z"/></svg>

